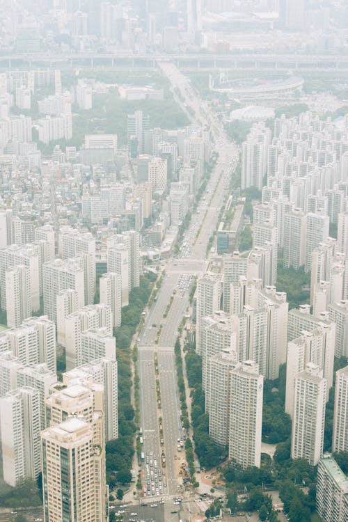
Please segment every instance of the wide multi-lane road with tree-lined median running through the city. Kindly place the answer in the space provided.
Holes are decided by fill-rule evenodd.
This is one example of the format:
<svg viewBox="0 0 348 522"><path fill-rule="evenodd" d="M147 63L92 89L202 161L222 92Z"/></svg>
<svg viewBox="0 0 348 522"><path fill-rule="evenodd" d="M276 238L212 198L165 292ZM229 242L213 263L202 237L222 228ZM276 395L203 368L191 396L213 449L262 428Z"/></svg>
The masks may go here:
<svg viewBox="0 0 348 522"><path fill-rule="evenodd" d="M168 502L182 492L178 462L184 453L178 451L177 445L184 438L184 430L180 420L174 345L178 326L189 306L193 275L199 276L205 271L207 243L216 229L237 158L237 149L226 139L221 122L210 111L207 102L199 100L187 78L171 63L161 63L161 70L173 88L180 90L183 108L191 107L195 122L210 129L219 158L185 232L180 254L164 265L166 275L138 340L144 454L142 477L147 493L145 499L149 503L160 499ZM162 454L166 459L165 467L161 466ZM177 520L177 515L170 511L172 507L172 502L166 505L165 520L172 515Z"/></svg>

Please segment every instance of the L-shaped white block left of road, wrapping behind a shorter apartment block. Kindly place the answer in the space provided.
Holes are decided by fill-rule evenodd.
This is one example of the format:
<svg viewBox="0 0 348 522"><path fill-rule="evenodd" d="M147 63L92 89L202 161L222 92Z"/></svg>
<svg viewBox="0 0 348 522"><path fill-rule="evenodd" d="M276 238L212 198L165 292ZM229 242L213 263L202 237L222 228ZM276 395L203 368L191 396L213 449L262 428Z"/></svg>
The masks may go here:
<svg viewBox="0 0 348 522"><path fill-rule="evenodd" d="M81 334L90 329L104 328L112 335L111 308L104 304L88 305L80 308L65 318L65 356L67 370L81 365L82 340ZM97 358L95 356L94 358Z"/></svg>

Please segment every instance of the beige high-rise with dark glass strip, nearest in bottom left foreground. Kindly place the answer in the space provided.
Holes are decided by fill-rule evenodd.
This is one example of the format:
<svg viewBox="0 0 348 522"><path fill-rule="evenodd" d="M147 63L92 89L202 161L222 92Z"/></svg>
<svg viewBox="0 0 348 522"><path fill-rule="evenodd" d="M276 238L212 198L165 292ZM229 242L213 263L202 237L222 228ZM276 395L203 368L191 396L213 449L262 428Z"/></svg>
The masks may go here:
<svg viewBox="0 0 348 522"><path fill-rule="evenodd" d="M45 521L105 521L105 448L94 431L72 417L42 432Z"/></svg>

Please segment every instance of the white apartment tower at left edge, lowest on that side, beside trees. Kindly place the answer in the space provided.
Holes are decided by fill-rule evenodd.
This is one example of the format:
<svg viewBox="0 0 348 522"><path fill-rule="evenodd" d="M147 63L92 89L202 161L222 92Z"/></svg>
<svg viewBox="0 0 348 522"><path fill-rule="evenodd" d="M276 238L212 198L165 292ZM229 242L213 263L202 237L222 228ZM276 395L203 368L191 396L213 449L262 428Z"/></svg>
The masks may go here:
<svg viewBox="0 0 348 522"><path fill-rule="evenodd" d="M25 478L36 480L41 470L40 396L29 386L0 397L3 480L16 487Z"/></svg>

